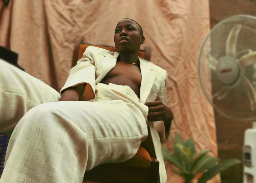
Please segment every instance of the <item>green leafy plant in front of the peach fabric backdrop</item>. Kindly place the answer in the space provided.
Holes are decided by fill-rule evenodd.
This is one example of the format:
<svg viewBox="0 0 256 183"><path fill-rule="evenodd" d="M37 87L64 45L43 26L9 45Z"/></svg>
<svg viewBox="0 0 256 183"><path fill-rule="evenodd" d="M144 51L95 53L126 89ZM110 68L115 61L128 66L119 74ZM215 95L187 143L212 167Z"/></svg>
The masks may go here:
<svg viewBox="0 0 256 183"><path fill-rule="evenodd" d="M177 169L172 171L184 178L185 183L191 183L197 174L202 174L198 183L206 183L221 171L241 163L238 159L220 161L208 155L211 150L202 150L195 154L195 144L192 138L186 142L177 134L174 138L174 153L162 147L164 160L173 164Z"/></svg>

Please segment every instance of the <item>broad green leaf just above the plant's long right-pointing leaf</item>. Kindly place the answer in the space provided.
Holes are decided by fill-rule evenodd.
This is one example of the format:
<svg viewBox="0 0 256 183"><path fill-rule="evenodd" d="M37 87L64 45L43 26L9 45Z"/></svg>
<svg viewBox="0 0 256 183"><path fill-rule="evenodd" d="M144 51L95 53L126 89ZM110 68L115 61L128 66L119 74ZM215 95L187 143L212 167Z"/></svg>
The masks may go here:
<svg viewBox="0 0 256 183"><path fill-rule="evenodd" d="M217 158L205 154L202 158L200 158L197 164L191 168L191 173L196 175L205 171L206 169L213 167L217 162Z"/></svg>

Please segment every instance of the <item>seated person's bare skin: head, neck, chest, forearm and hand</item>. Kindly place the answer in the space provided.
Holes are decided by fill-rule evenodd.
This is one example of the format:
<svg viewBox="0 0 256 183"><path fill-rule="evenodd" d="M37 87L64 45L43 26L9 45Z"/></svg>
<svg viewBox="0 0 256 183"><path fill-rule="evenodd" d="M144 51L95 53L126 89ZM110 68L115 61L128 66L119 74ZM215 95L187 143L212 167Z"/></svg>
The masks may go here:
<svg viewBox="0 0 256 183"><path fill-rule="evenodd" d="M139 26L132 20L121 20L115 29L114 42L119 57L114 69L102 79L104 84L117 84L130 86L140 97L141 72L139 66L139 49L145 41L140 34ZM135 63L135 64L133 64ZM61 95L60 101L79 101L85 84L66 89ZM164 121L165 129L171 125L173 119L172 110L162 102L147 102L149 121Z"/></svg>

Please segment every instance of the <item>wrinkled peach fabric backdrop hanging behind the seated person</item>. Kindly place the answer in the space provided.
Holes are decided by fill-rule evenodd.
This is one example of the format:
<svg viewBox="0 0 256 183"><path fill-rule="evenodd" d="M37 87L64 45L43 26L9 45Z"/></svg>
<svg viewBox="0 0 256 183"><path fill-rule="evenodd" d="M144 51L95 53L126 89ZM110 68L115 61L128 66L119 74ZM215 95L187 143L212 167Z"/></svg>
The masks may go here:
<svg viewBox="0 0 256 183"><path fill-rule="evenodd" d="M217 156L213 108L203 96L197 56L210 30L208 0L11 0L0 1L0 45L19 53L21 67L56 90L71 69L74 41L114 46L114 29L123 18L143 28L152 62L168 72L168 105L174 113L171 141L192 137L197 150ZM182 183L166 162L168 182ZM219 176L211 183L219 182Z"/></svg>

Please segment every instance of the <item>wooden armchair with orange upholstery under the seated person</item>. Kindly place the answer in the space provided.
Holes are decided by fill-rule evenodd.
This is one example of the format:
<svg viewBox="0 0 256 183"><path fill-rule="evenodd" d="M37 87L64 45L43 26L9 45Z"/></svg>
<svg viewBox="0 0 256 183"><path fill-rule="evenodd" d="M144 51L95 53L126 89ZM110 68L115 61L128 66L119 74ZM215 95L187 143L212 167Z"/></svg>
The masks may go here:
<svg viewBox="0 0 256 183"><path fill-rule="evenodd" d="M84 43L82 38L77 38L72 59L72 67L82 58L88 46L104 48L116 51L114 47L106 45L93 45ZM151 58L150 47L145 47L139 52L139 56L149 60ZM122 163L107 163L94 167L85 172L83 183L157 183L159 176L159 161L151 157L149 152L140 146L136 155Z"/></svg>

